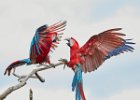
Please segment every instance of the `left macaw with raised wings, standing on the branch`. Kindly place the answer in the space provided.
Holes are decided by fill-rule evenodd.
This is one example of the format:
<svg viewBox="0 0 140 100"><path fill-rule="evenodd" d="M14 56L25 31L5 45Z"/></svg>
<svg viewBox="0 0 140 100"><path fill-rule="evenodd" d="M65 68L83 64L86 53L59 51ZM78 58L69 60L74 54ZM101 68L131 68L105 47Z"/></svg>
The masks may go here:
<svg viewBox="0 0 140 100"><path fill-rule="evenodd" d="M57 47L56 44L59 43L62 31L66 26L66 21L60 21L51 26L43 25L39 27L32 39L30 46L29 58L23 60L17 60L11 63L5 70L4 74L10 75L13 68L20 65L30 65L30 64L41 64L48 63L51 64L49 58L49 52Z"/></svg>

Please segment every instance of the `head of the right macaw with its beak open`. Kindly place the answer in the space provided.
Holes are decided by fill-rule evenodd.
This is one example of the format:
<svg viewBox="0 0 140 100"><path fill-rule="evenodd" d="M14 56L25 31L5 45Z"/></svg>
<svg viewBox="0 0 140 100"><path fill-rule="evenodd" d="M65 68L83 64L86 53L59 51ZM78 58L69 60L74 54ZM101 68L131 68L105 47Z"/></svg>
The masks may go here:
<svg viewBox="0 0 140 100"><path fill-rule="evenodd" d="M79 44L73 37L65 39L68 43L66 43L70 48L79 48Z"/></svg>

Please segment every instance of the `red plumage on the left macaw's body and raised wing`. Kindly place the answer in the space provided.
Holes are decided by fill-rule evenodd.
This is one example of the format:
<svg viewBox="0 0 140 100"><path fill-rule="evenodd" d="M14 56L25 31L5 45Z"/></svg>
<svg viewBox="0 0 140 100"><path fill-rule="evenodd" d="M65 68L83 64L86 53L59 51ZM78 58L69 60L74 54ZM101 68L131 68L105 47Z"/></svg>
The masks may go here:
<svg viewBox="0 0 140 100"><path fill-rule="evenodd" d="M50 63L48 54L51 51L51 49L54 50L57 47L55 44L59 43L58 41L56 43L52 42L52 35L54 34L59 35L59 32L56 31L61 31L62 29L64 29L65 26L66 26L66 21L58 22L38 33L39 41L37 45L39 47L40 54L37 52L35 45L33 45L31 47L31 53L30 53L30 59L33 63L42 63L42 62Z"/></svg>

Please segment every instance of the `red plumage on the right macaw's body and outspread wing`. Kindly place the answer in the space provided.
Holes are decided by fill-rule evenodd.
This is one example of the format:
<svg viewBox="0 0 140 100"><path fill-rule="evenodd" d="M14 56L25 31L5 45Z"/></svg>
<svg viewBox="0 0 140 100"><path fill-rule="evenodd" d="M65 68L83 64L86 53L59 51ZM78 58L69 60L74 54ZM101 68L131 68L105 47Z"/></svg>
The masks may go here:
<svg viewBox="0 0 140 100"><path fill-rule="evenodd" d="M119 33L119 30L121 28L114 28L94 35L81 48L78 42L74 38L71 38L73 45L70 48L68 66L74 69L74 66L80 63L82 71L85 73L97 69L111 51L126 43L122 38L125 34ZM130 47L130 49L133 48Z"/></svg>

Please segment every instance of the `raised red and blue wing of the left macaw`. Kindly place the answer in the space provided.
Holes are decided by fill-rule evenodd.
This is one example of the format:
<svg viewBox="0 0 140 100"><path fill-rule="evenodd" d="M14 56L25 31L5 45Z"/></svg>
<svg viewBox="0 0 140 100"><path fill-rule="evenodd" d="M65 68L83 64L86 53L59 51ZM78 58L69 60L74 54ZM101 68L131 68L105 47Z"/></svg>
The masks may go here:
<svg viewBox="0 0 140 100"><path fill-rule="evenodd" d="M38 56L46 55L50 48L56 47L55 44L52 45L51 33L61 36L65 26L66 21L60 21L51 26L43 25L36 30L30 46L30 58L32 61Z"/></svg>

